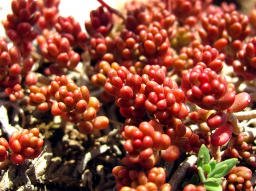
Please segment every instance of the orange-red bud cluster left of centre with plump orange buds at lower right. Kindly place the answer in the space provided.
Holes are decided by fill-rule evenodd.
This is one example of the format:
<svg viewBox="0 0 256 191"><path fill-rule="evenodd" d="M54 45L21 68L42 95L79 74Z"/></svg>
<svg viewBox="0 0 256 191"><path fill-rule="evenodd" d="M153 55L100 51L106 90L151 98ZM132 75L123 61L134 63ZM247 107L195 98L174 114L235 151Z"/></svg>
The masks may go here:
<svg viewBox="0 0 256 191"><path fill-rule="evenodd" d="M99 111L99 100L96 97L90 97L86 86L78 87L75 83L67 83L59 88L54 97L56 102L52 113L61 114L64 120L71 123L82 120L78 126L81 133L88 134L93 128L103 129L108 126L108 117L96 117Z"/></svg>

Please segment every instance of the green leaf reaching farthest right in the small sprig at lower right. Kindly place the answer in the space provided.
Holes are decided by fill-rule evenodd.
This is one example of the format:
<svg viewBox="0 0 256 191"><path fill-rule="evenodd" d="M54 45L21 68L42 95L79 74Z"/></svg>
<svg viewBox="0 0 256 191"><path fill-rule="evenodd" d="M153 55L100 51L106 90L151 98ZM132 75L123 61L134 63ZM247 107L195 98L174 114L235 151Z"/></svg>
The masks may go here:
<svg viewBox="0 0 256 191"><path fill-rule="evenodd" d="M214 178L224 177L236 165L236 162L237 162L237 159L227 159L227 160L224 160L224 161L218 163L215 166L215 169L220 169L220 167L222 167L223 165L227 165L227 166L225 167L225 169L223 171L221 171L221 173L217 173L217 172L213 173L213 171L212 171L210 174L208 174L207 177L214 177ZM215 169L214 169L214 171L215 171Z"/></svg>

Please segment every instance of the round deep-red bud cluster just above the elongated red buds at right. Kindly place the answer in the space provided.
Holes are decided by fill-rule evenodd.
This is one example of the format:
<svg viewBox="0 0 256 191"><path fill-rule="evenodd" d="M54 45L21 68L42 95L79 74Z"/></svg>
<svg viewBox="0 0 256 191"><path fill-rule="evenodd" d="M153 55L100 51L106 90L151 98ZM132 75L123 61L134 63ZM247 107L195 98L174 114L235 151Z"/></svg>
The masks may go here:
<svg viewBox="0 0 256 191"><path fill-rule="evenodd" d="M236 97L224 76L218 76L215 71L203 69L200 65L183 75L181 87L188 101L207 110L228 109Z"/></svg>

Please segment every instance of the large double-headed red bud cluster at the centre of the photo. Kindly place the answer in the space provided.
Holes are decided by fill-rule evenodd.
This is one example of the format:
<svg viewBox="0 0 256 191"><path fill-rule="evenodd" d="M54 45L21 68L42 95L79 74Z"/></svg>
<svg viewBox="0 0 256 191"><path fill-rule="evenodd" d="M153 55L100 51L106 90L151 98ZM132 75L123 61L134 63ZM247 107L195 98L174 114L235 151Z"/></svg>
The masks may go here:
<svg viewBox="0 0 256 191"><path fill-rule="evenodd" d="M121 66L117 71L108 71L105 90L116 97L116 105L124 117L140 118L148 110L162 124L168 124L173 117L184 118L188 114L182 103L185 94L177 83L166 77L166 69L160 66L145 66L143 75L131 74Z"/></svg>

